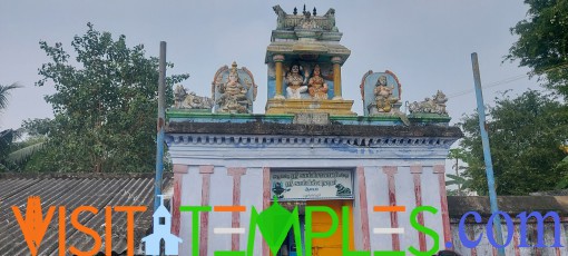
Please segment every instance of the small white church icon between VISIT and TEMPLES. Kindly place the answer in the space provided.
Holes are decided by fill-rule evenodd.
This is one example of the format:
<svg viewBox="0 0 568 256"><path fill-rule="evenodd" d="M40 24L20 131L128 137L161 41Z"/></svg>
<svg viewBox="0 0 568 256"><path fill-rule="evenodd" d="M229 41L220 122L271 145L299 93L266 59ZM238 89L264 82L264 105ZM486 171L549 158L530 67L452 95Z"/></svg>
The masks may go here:
<svg viewBox="0 0 568 256"><path fill-rule="evenodd" d="M172 214L164 206L164 197L159 195L160 204L154 213L154 233L146 236L141 242L146 246L146 255L161 255L160 244L164 240L166 255L178 255L178 245L183 240L172 234Z"/></svg>

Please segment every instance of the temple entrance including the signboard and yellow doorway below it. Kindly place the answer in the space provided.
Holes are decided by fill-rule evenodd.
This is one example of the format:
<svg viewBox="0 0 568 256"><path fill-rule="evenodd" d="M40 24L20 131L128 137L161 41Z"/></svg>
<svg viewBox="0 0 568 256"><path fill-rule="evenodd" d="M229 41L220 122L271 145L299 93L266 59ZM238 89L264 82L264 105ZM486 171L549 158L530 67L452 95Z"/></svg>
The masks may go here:
<svg viewBox="0 0 568 256"><path fill-rule="evenodd" d="M282 169L271 171L271 198L288 210L298 207L300 237L302 246L296 245L294 232L291 230L277 256L296 256L305 248L306 207L325 206L337 216L337 228L324 238L312 238L313 256L342 255L342 247L353 248L353 170L352 169ZM349 208L349 224L343 224L342 207ZM313 211L312 234L329 233L332 217L326 211ZM349 237L343 245L343 226L349 225ZM305 255L305 254L304 254Z"/></svg>

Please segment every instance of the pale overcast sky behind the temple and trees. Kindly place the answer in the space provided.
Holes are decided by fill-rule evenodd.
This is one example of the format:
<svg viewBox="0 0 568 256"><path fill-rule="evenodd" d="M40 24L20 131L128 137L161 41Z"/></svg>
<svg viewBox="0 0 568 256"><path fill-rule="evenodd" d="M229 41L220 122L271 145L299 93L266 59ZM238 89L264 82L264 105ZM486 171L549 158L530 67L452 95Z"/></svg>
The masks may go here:
<svg viewBox="0 0 568 256"><path fill-rule="evenodd" d="M143 43L147 56L158 56L159 41L167 41L167 60L175 63L168 75L190 73L183 85L197 95L209 96L215 71L237 61L254 75L258 85L254 111L263 114L264 57L276 28L272 7L280 4L292 13L304 3L320 14L335 9L341 43L352 51L342 68L343 97L355 100L359 115L363 112L359 85L369 70L393 71L402 83L403 101L423 100L438 89L454 96L448 102L452 122L476 108L471 52L479 55L483 86L528 71L502 62L516 41L509 28L525 19L528 9L513 0L2 0L0 83L19 82L25 88L12 91L8 109L0 114L0 130L52 116L43 96L53 88L33 86L40 79L38 68L48 61L38 42L62 42L72 52L72 37L85 33L87 22L115 39L125 35L130 47ZM486 88L486 104L497 91L522 92L529 87L540 88L528 78Z"/></svg>

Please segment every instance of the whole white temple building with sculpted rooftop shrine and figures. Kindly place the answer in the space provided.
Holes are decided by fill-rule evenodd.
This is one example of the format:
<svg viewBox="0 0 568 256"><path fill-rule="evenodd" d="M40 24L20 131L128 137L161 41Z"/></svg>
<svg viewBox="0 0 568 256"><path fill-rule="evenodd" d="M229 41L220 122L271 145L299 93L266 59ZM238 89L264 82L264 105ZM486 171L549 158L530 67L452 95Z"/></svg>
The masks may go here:
<svg viewBox="0 0 568 256"><path fill-rule="evenodd" d="M238 60L210 67L210 98L182 86L175 90L166 140L175 173L172 230L184 240L179 252L214 255L252 245L246 255L268 256L265 234L251 228L252 219L268 226L287 219L253 217L268 211L297 221L272 255L334 256L345 248L404 255L411 246L425 252L433 239L410 221L419 206L437 209L421 211L415 221L435 232L444 248L452 242L445 157L462 132L449 126L443 92L432 88L433 97L410 104L407 112L394 72L342 78L351 51L340 45L334 9L323 16L315 8L274 11L268 79L259 85L267 88L266 112L253 112L258 86ZM342 79L360 85L345 89L361 92L363 116L351 109ZM309 210L315 206L331 211ZM323 238L310 236L327 230Z"/></svg>

